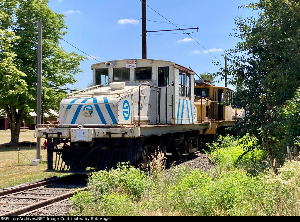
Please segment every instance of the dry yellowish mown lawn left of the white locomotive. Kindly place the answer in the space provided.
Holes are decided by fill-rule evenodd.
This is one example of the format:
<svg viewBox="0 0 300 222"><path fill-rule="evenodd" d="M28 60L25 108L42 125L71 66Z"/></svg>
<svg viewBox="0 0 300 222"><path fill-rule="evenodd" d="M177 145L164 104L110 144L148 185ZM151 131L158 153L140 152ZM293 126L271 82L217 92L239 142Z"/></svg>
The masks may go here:
<svg viewBox="0 0 300 222"><path fill-rule="evenodd" d="M36 138L33 137L34 130L27 132L20 132L19 142L29 141L36 142ZM36 179L43 179L50 176L61 176L61 173L49 173L44 172L47 168L47 163L38 164L38 166L31 165L31 159L36 158L36 147L5 147L5 143L10 142L10 131L0 131L0 189L6 187L12 187L25 182L34 181ZM41 140L41 144L44 143L44 139ZM18 162L18 149L26 155L19 155ZM46 160L46 150L41 149L42 160Z"/></svg>

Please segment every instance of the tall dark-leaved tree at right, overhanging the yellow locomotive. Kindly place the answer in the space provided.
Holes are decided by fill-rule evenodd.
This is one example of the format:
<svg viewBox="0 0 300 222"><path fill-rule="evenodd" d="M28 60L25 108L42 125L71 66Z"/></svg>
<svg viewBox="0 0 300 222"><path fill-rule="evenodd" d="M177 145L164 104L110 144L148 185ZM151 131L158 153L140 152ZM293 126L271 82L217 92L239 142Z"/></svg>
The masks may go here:
<svg viewBox="0 0 300 222"><path fill-rule="evenodd" d="M293 98L300 85L300 4L258 0L240 7L257 11L258 18L235 19L237 28L231 35L241 41L225 52L232 75L228 83L236 87L236 98L249 111L250 122L243 132L261 138L265 149L283 153L285 147L274 148L274 140L268 138L273 137L278 107ZM224 68L220 71L224 73Z"/></svg>

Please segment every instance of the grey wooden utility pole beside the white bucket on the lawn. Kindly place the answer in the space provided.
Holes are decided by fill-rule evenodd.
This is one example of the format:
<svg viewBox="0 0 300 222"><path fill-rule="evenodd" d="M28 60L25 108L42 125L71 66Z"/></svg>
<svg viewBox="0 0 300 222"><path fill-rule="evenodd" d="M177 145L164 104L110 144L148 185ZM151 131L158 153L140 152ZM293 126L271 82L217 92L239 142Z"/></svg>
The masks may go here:
<svg viewBox="0 0 300 222"><path fill-rule="evenodd" d="M42 19L38 20L38 78L37 78L37 125L41 124L42 95ZM37 159L41 158L41 138L37 138Z"/></svg>

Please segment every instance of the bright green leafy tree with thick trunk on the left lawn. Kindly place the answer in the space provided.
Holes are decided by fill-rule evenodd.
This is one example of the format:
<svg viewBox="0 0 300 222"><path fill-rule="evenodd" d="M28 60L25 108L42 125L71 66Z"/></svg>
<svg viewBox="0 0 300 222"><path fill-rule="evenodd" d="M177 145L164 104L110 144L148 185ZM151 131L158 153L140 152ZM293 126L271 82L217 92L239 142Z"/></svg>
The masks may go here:
<svg viewBox="0 0 300 222"><path fill-rule="evenodd" d="M0 108L5 109L10 121L11 143L19 141L23 118L31 109L36 111L38 19L43 22L42 87L74 84L76 80L73 75L82 72L79 64L84 57L75 52L68 53L59 46L61 37L67 34L65 16L53 12L47 3L48 0L0 0L0 21L17 22L0 24L1 30L12 31L4 31L10 35L10 42L6 42L10 46L5 50L10 50L11 54L7 54L6 59L10 60L11 65L0 61L4 67L1 75L12 79L11 82L3 77L0 80L1 85L8 84L7 90L0 93ZM24 22L26 24L21 24ZM62 94L54 90L47 90L47 93L45 112L50 108L58 110Z"/></svg>

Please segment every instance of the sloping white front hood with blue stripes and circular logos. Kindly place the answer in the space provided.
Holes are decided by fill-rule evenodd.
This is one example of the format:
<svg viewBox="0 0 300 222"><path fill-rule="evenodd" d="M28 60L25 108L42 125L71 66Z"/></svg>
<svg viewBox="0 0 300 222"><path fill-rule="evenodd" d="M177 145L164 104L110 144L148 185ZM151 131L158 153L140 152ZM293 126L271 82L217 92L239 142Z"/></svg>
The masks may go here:
<svg viewBox="0 0 300 222"><path fill-rule="evenodd" d="M131 92L134 86L111 90L105 86L64 98L60 124L131 124Z"/></svg>

